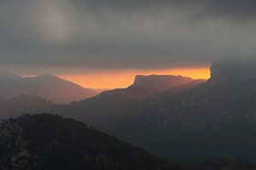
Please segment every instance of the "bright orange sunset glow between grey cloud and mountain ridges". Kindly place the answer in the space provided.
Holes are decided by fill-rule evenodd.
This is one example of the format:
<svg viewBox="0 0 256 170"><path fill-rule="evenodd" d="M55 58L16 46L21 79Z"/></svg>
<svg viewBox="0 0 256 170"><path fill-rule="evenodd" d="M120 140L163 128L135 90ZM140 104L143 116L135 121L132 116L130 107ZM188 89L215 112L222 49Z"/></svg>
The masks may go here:
<svg viewBox="0 0 256 170"><path fill-rule="evenodd" d="M209 68L178 68L169 70L102 71L89 74L57 75L84 88L126 88L136 75L181 75L195 79L210 77Z"/></svg>

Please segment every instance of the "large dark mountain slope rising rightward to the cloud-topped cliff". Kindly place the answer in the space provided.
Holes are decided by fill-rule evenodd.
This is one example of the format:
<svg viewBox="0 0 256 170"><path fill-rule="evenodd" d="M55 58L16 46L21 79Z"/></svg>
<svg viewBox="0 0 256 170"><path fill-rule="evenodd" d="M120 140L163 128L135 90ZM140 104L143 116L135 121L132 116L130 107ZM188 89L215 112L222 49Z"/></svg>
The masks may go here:
<svg viewBox="0 0 256 170"><path fill-rule="evenodd" d="M220 156L256 161L254 63L219 61L207 82L187 82L146 95L143 86L132 85L55 112L172 159Z"/></svg>

